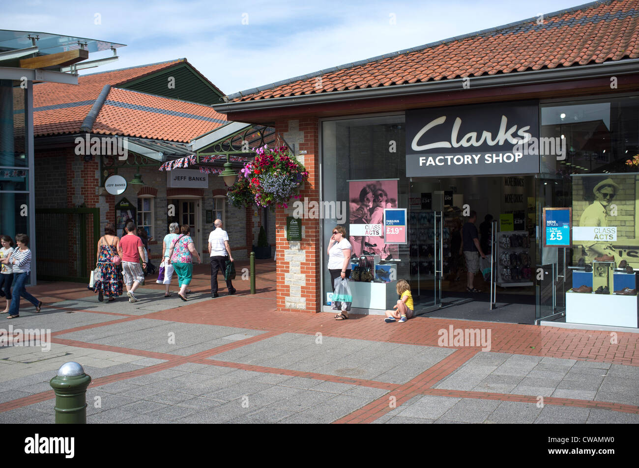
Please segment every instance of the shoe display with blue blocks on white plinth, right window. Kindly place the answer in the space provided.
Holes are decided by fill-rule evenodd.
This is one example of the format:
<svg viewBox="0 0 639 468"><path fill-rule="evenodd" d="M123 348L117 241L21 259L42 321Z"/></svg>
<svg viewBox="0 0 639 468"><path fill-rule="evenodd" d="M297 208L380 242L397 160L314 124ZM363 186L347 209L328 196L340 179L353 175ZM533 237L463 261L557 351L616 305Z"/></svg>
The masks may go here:
<svg viewBox="0 0 639 468"><path fill-rule="evenodd" d="M607 256L573 268L573 289L566 293L566 322L637 328L635 271Z"/></svg>

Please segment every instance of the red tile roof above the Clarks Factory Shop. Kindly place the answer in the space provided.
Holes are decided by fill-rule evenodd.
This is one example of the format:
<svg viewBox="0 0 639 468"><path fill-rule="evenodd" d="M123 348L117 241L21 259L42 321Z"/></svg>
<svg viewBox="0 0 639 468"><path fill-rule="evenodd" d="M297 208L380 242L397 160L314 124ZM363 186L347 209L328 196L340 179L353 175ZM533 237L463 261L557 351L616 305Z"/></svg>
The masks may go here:
<svg viewBox="0 0 639 468"><path fill-rule="evenodd" d="M579 66L639 57L639 0L507 24L232 94L236 102ZM321 86L317 87L321 77Z"/></svg>

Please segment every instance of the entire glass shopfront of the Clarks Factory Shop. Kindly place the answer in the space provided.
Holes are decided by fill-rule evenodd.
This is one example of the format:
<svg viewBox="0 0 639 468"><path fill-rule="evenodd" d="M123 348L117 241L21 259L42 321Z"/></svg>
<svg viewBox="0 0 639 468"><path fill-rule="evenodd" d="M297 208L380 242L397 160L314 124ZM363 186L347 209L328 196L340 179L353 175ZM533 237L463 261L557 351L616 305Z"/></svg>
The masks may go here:
<svg viewBox="0 0 639 468"><path fill-rule="evenodd" d="M354 308L383 313L397 300L396 280L406 279L415 312L429 316L636 327L639 161L627 161L639 153L639 96L409 110L321 125L321 200L346 206L341 218L325 216L322 238L326 245L336 224L346 227ZM385 242L383 212L394 208L406 209L405 244ZM571 208L571 246L543 245L544 208ZM487 254L475 276L480 294L466 291L459 254L471 209ZM596 300L626 301L610 304L624 308L624 318L575 315L584 291L592 287L594 297L604 280L608 289ZM510 306L491 310L491 289ZM331 291L323 271L325 304Z"/></svg>

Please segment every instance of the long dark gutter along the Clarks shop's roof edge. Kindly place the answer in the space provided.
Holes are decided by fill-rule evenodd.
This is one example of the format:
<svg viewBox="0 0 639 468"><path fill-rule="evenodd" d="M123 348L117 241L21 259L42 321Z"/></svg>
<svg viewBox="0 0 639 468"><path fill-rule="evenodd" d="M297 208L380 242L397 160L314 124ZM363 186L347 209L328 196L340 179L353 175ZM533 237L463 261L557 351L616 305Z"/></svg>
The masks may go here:
<svg viewBox="0 0 639 468"><path fill-rule="evenodd" d="M348 91L332 91L330 93L305 94L302 96L286 96L283 98L239 101L213 105L215 112L242 112L247 110L278 109L320 103L352 102L358 100L412 96L415 94L446 93L460 91L463 84L469 83L471 89L490 87L520 86L528 84L547 84L575 79L610 78L615 75L639 73L639 59L625 59L615 62L604 62L594 65L553 68L552 70L534 70L531 72L514 72L502 75L459 78L454 80L429 81L426 83L401 84L393 86L368 87ZM466 81L465 81L466 80Z"/></svg>

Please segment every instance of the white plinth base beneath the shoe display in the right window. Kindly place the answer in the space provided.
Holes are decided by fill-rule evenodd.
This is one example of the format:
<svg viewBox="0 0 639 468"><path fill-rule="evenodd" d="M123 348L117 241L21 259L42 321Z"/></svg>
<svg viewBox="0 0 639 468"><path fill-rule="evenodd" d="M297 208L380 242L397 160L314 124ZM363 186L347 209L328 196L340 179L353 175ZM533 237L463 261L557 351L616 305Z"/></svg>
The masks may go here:
<svg viewBox="0 0 639 468"><path fill-rule="evenodd" d="M637 296L569 291L566 322L637 328Z"/></svg>

